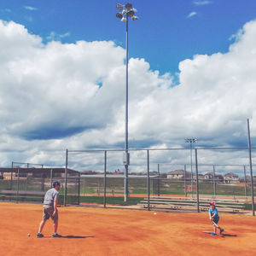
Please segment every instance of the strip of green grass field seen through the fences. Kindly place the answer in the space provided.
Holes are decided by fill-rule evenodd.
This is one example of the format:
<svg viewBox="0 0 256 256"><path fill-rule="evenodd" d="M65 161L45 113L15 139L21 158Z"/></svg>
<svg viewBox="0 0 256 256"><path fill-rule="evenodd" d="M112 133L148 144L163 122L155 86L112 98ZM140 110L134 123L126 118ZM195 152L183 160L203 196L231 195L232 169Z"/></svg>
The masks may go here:
<svg viewBox="0 0 256 256"><path fill-rule="evenodd" d="M42 185L40 184L41 179L37 179L36 182L28 183L26 186L26 180L20 180L19 189L29 191L40 191ZM130 194L147 194L148 184L146 178L130 178L129 181L129 192ZM188 181L186 185L189 185ZM195 183L194 183L195 185ZM9 180L0 180L0 193L2 189L9 189ZM183 195L184 194L184 183L183 181L175 181L171 179L161 179L158 183L157 179L150 180L150 194L158 194L160 188L160 195ZM13 181L13 189L17 189L17 181ZM44 190L49 189L44 186ZM68 187L69 193L75 193L78 188ZM80 195L102 193L104 189L104 183L102 177L82 177L80 181ZM256 189L256 188L255 188ZM107 193L119 194L124 190L124 179L120 178L107 178ZM201 195L213 195L214 189L212 183L199 183L199 191ZM63 194L63 187L61 188L61 194ZM234 195L234 196L245 196L244 184L230 185L224 183L216 183L216 194L217 195ZM251 195L251 189L247 183L247 196Z"/></svg>

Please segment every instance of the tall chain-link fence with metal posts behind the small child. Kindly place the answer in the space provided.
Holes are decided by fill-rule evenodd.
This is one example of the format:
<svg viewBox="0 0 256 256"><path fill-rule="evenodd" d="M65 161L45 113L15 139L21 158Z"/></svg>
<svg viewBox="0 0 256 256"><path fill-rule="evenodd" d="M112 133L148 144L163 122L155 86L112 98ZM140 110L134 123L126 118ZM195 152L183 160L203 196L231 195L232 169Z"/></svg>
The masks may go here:
<svg viewBox="0 0 256 256"><path fill-rule="evenodd" d="M127 176L123 149L67 149L66 168L82 174L81 204L201 212L216 201L220 211L254 215L255 149L249 148L251 154L248 148L129 149Z"/></svg>

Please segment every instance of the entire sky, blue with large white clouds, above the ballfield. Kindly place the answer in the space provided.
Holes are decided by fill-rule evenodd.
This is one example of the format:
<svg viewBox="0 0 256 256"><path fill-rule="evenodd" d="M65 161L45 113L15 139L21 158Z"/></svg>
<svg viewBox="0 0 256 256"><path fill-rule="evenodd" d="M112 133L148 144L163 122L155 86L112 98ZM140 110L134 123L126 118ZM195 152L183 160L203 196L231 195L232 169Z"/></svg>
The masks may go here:
<svg viewBox="0 0 256 256"><path fill-rule="evenodd" d="M125 23L116 3L1 1L0 166L64 166L66 148L124 148ZM255 1L132 3L129 147L188 148L186 137L199 148L247 146L247 118L255 145ZM156 162L187 163L186 152ZM236 152L201 155L247 164Z"/></svg>

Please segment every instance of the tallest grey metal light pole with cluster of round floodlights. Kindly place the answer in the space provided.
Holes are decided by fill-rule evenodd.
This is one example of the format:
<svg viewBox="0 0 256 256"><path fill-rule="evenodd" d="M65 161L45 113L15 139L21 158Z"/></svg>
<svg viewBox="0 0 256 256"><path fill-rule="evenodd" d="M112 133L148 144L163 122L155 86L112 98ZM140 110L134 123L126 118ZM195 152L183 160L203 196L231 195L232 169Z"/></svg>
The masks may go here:
<svg viewBox="0 0 256 256"><path fill-rule="evenodd" d="M125 92L125 153L123 158L123 163L125 165L125 193L124 201L127 201L128 198L128 166L130 164L130 155L128 153L128 20L129 17L131 20L137 20L138 17L135 16L137 9L132 8L131 3L126 3L125 5L117 4L116 8L119 12L116 14L116 17L121 21L126 22L126 92Z"/></svg>

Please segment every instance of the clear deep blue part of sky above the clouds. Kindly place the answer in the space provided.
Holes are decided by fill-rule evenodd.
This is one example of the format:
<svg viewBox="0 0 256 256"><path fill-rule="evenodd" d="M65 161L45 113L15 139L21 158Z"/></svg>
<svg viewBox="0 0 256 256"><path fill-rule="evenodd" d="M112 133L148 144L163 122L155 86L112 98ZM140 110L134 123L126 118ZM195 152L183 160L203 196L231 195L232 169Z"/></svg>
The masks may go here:
<svg viewBox="0 0 256 256"><path fill-rule="evenodd" d="M125 24L113 0L2 0L0 17L26 26L47 41L113 40L125 47ZM145 58L160 73L175 73L178 62L195 54L226 52L230 37L256 18L254 0L136 0L140 20L130 22L129 55ZM191 17L189 17L191 15Z"/></svg>

